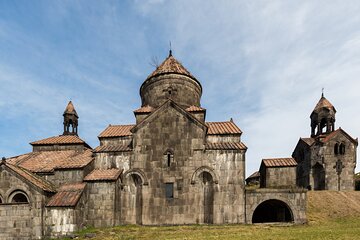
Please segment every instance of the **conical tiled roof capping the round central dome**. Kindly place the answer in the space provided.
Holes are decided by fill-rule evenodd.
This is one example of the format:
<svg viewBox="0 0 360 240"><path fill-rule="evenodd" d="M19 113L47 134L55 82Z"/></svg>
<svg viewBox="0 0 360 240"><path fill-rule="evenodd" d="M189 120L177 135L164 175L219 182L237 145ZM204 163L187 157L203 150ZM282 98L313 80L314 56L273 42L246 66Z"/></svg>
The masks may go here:
<svg viewBox="0 0 360 240"><path fill-rule="evenodd" d="M150 79L154 76L158 76L158 75L166 74L166 73L182 74L182 75L186 75L188 77L195 79L195 77L193 75L191 75L191 73L188 70L186 70L186 68L178 60L176 60L172 55L170 55L168 58L166 58L165 61L162 62L155 69L155 71L152 72L146 79Z"/></svg>

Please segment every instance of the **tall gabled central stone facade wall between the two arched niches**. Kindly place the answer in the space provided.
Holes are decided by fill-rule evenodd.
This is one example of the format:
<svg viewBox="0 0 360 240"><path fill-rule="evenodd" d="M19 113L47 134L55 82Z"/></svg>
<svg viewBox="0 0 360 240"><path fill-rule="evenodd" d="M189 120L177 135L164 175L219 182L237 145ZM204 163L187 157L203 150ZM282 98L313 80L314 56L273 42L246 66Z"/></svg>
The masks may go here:
<svg viewBox="0 0 360 240"><path fill-rule="evenodd" d="M171 106L157 114L134 133L132 169L140 169L148 181L148 185L142 187L141 222L148 225L200 223L200 199L196 187L191 185L191 177L201 165L202 155L195 154L195 150L204 148L204 129ZM169 149L174 155L168 167L164 156ZM166 183L173 184L173 198L166 198ZM126 204L135 206L136 198L129 199L132 201ZM131 215L134 213L129 213L124 221L132 221Z"/></svg>

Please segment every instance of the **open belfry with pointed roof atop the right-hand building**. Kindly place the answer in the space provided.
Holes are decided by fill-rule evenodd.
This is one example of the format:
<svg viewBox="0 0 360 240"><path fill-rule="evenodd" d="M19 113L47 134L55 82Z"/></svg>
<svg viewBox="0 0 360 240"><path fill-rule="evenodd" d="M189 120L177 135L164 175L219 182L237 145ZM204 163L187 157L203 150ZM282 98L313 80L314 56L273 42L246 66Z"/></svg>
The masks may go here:
<svg viewBox="0 0 360 240"><path fill-rule="evenodd" d="M319 102L310 115L311 137L328 134L335 130L335 107L321 94Z"/></svg>

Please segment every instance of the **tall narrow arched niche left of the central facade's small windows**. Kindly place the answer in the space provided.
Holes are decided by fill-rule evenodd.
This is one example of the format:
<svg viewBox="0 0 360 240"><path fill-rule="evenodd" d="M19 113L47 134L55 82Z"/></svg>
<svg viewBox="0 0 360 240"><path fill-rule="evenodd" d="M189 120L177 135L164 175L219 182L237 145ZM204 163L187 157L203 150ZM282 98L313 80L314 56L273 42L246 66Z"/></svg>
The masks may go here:
<svg viewBox="0 0 360 240"><path fill-rule="evenodd" d="M133 199L133 207L135 213L135 223L142 224L142 179L137 174L131 174L130 176L130 193Z"/></svg>

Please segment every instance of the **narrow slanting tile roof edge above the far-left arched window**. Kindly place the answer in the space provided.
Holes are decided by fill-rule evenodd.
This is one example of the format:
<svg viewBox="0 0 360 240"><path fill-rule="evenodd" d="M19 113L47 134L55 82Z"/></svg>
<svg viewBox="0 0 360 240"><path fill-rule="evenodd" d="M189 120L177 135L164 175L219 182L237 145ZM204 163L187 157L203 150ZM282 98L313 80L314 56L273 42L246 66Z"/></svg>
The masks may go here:
<svg viewBox="0 0 360 240"><path fill-rule="evenodd" d="M25 178L25 180L27 180L31 184L39 187L40 189L46 192L56 192L55 187L45 179L41 178L40 176L37 176L36 174L22 167L15 166L10 163L6 163L6 166L10 168L12 171L19 174L21 177Z"/></svg>

